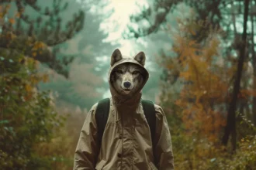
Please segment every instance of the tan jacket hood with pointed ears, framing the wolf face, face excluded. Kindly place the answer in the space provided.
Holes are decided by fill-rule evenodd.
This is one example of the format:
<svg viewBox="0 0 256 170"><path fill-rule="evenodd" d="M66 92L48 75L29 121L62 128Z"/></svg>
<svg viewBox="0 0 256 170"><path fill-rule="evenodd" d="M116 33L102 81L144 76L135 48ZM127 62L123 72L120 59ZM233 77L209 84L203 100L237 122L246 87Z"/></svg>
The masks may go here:
<svg viewBox="0 0 256 170"><path fill-rule="evenodd" d="M110 93L112 95L112 99L114 104L116 104L116 106L123 106L125 105L126 107L133 107L133 106L137 106L137 104L139 104L140 102L140 98L141 98L141 90L143 89L144 85L147 83L147 80L149 78L149 73L147 72L147 70L144 67L145 64L145 54L143 52L138 53L136 56L134 57L130 57L130 56L122 56L122 54L120 53L119 49L115 49L115 51L112 53L111 56L111 67L109 69L109 76L108 76L108 81L109 81L109 89L110 89ZM133 94L120 94L118 93L115 88L112 86L112 82L111 82L111 75L113 73L113 70L116 68L116 66L119 66L121 64L124 63L133 63L136 64L137 66L140 66L140 68L142 70L144 70L144 82L141 84L140 88L137 89L137 91L133 92Z"/></svg>

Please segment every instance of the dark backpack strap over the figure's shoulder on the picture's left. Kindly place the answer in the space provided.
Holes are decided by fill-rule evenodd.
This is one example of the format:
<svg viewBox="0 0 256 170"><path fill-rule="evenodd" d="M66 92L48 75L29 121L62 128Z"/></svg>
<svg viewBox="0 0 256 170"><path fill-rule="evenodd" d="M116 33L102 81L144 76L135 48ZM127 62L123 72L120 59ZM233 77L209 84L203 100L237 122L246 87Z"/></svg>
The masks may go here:
<svg viewBox="0 0 256 170"><path fill-rule="evenodd" d="M106 123L109 117L109 106L110 100L109 98L102 99L99 101L98 106L96 108L95 118L98 128L98 144L102 145L102 136L106 127Z"/></svg>

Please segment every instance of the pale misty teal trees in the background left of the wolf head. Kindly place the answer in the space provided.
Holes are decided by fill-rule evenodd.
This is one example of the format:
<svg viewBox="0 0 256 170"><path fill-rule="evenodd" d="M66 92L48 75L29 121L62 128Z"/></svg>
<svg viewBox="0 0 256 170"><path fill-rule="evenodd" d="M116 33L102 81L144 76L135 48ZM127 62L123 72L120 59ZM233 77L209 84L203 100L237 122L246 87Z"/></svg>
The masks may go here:
<svg viewBox="0 0 256 170"><path fill-rule="evenodd" d="M108 82L104 81L107 80L109 70L109 62L106 59L110 59L109 54L118 44L112 45L111 42L103 41L107 38L108 32L100 29L100 24L107 15L104 13L103 16L99 10L90 11L89 7L93 5L89 2L86 0L82 3L72 3L70 10L63 13L65 19L65 16L68 17L70 12L75 12L78 8L86 11L84 29L77 36L59 46L61 54L75 56L68 66L69 79L66 80L53 73L49 82L40 84L40 89L54 90L58 93L58 106L68 103L73 107L80 107L81 110L88 110L102 98L102 93L109 88ZM85 6L84 3L86 3ZM95 8L103 9L105 5L100 2ZM111 11L109 13L111 14Z"/></svg>

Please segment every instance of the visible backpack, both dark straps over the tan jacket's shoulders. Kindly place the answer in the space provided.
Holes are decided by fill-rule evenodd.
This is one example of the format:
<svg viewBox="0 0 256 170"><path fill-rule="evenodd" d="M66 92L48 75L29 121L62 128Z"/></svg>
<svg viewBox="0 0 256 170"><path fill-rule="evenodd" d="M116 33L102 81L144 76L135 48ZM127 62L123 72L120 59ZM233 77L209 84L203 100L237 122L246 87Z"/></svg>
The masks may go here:
<svg viewBox="0 0 256 170"><path fill-rule="evenodd" d="M141 104L143 106L144 114L147 119L147 124L149 124L149 127L150 127L151 141L154 146L154 134L155 134L155 128L156 128L154 103L150 100L141 100ZM110 100L109 98L106 98L99 101L96 109L95 118L96 118L96 123L98 128L99 146L102 144L103 132L105 130L106 123L108 121L109 106L110 106Z"/></svg>

